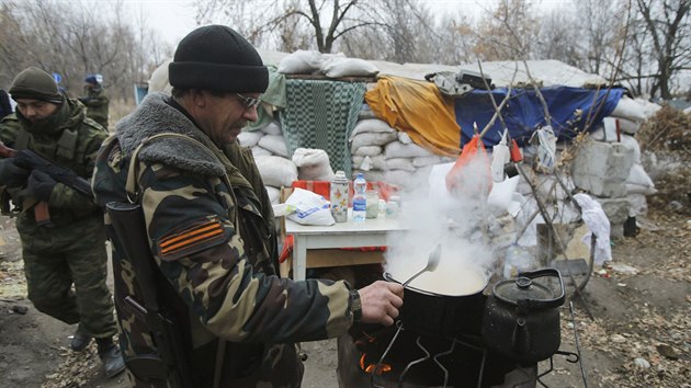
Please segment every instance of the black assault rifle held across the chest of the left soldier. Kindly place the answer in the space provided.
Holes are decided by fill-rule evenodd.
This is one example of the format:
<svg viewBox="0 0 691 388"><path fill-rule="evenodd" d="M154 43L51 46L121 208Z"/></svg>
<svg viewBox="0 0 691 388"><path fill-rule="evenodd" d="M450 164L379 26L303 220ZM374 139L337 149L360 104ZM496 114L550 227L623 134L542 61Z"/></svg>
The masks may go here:
<svg viewBox="0 0 691 388"><path fill-rule="evenodd" d="M91 184L86 179L77 175L77 173L70 169L66 169L56 164L55 162L42 157L41 155L32 151L31 149L15 150L7 147L0 141L0 158L13 158L18 161L16 164L25 167L30 170L38 170L47 173L56 182L60 182L67 186L75 189L79 194L93 199L93 192L91 191ZM9 208L3 208L3 213ZM34 216L37 225L50 226L50 213L48 213L48 204L45 202L38 202L34 206Z"/></svg>

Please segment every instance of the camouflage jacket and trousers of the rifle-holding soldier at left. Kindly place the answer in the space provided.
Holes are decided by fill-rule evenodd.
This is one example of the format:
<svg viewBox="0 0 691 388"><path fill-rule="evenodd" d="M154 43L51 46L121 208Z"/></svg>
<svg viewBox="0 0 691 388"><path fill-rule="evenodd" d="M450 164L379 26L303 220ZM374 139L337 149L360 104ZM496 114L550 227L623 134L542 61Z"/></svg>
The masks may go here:
<svg viewBox="0 0 691 388"><path fill-rule="evenodd" d="M4 117L0 140L14 148L20 130L31 135L26 148L84 179L91 178L97 151L106 137L101 126L86 118L83 106L76 100L66 100L37 124L26 121L19 111ZM70 149L56 141L64 132L75 135ZM117 329L105 285L103 215L94 203L61 183L53 190L48 206L55 227L36 225L33 208L23 209L16 219L29 298L38 310L66 323L81 321L94 338L111 338ZM76 294L70 290L72 284Z"/></svg>

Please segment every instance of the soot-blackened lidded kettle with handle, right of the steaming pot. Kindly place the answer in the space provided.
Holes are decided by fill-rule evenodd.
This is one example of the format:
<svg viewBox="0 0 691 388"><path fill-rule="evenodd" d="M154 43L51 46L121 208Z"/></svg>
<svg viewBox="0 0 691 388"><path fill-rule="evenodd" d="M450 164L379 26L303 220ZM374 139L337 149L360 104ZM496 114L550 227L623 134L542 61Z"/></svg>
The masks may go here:
<svg viewBox="0 0 691 388"><path fill-rule="evenodd" d="M557 293L546 285L550 278L558 283ZM551 357L562 343L559 306L564 299L564 281L556 269L523 272L518 278L498 282L483 316L485 346L526 364Z"/></svg>

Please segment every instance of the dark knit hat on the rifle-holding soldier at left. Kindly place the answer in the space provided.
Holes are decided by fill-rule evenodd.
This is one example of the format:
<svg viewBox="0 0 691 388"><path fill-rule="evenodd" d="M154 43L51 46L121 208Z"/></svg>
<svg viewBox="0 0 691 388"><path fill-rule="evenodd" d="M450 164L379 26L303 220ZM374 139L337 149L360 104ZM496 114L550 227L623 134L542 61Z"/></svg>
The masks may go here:
<svg viewBox="0 0 691 388"><path fill-rule="evenodd" d="M58 90L55 79L37 67L30 67L14 77L10 88L12 99L30 99L45 101L53 104L63 103L63 94Z"/></svg>

